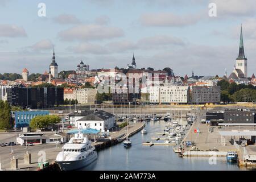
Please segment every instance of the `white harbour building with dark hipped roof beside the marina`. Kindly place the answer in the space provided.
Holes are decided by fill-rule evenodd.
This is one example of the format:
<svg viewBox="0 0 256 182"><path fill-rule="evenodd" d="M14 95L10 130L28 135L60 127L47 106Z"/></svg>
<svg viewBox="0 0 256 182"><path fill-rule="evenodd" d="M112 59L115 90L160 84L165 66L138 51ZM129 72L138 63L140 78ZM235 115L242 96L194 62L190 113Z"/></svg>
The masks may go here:
<svg viewBox="0 0 256 182"><path fill-rule="evenodd" d="M104 110L75 111L68 117L73 125L81 129L107 131L116 125L114 115Z"/></svg>

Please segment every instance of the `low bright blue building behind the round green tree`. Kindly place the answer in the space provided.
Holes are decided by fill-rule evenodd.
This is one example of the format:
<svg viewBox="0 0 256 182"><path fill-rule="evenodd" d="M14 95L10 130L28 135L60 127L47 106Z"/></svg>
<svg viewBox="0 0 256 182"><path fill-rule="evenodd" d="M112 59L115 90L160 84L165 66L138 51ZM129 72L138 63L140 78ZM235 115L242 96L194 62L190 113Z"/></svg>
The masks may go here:
<svg viewBox="0 0 256 182"><path fill-rule="evenodd" d="M49 115L49 111L14 111L12 112L14 127L21 128L30 126L31 119L39 115Z"/></svg>

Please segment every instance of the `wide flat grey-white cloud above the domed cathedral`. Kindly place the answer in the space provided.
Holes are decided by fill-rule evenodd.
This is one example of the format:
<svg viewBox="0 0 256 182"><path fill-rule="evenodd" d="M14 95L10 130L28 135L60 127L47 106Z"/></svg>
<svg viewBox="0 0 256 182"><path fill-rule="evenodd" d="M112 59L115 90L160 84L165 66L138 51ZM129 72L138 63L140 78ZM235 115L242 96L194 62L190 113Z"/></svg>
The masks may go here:
<svg viewBox="0 0 256 182"><path fill-rule="evenodd" d="M121 28L106 27L98 24L87 24L69 28L59 32L61 40L103 40L119 38L124 35Z"/></svg>

